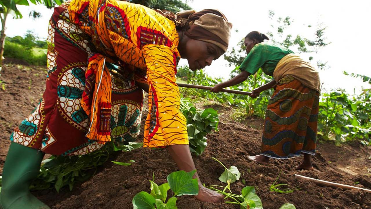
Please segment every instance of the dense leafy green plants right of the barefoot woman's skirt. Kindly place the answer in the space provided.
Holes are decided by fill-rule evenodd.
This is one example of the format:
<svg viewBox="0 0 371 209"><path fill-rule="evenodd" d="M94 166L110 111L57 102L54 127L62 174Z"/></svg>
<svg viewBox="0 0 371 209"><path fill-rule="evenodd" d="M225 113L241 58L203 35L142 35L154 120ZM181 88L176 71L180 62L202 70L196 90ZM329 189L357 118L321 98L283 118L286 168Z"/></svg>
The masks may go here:
<svg viewBox="0 0 371 209"><path fill-rule="evenodd" d="M370 89L353 96L344 91L322 94L318 129L323 138L334 137L338 145L359 138L362 144L368 145L371 140L370 98Z"/></svg>

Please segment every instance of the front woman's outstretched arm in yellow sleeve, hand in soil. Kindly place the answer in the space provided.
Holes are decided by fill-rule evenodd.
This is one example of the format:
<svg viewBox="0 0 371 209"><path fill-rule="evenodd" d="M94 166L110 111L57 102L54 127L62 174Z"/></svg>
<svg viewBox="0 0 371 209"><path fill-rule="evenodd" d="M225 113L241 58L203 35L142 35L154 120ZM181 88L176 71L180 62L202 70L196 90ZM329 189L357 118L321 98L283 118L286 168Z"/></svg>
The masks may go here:
<svg viewBox="0 0 371 209"><path fill-rule="evenodd" d="M144 147L167 147L180 170L196 170L188 145L187 120L179 111L180 93L175 84L174 57L176 52L167 46L145 45L142 52L147 63L147 81L150 87L144 131ZM224 197L205 188L196 173L199 192L196 198L203 202L223 202Z"/></svg>

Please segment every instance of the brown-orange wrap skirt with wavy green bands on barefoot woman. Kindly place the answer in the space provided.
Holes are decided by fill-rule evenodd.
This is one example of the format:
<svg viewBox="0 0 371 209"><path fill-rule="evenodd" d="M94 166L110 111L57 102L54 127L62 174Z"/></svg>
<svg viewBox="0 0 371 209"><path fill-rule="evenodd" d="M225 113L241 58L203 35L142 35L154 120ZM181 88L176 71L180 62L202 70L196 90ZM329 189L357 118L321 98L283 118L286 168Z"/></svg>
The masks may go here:
<svg viewBox="0 0 371 209"><path fill-rule="evenodd" d="M262 155L286 159L315 154L319 92L285 76L276 86L265 114Z"/></svg>

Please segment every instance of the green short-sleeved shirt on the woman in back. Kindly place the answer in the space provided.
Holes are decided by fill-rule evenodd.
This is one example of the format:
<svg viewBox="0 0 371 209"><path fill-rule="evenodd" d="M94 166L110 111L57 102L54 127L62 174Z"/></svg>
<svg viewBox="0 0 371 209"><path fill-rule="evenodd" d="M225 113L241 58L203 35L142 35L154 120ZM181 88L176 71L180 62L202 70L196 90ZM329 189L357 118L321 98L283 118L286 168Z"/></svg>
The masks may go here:
<svg viewBox="0 0 371 209"><path fill-rule="evenodd" d="M241 71L247 71L254 75L259 68L267 75L273 76L278 62L286 55L292 54L290 49L274 43L258 43L247 54L240 66Z"/></svg>

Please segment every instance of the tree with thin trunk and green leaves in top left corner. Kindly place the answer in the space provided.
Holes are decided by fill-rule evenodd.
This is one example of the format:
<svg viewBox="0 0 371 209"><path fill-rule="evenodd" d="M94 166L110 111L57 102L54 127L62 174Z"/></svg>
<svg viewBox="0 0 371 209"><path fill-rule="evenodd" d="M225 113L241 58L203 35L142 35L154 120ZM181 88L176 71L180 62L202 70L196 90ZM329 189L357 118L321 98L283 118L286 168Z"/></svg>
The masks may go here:
<svg viewBox="0 0 371 209"><path fill-rule="evenodd" d="M5 30L6 20L9 14L13 18L20 19L22 14L17 9L17 5L29 6L29 2L33 4L44 4L47 8L52 8L55 4L61 4L63 0L0 0L0 20L1 20L1 31L0 31L0 69L3 65L3 54L4 54L4 43L5 43Z"/></svg>

